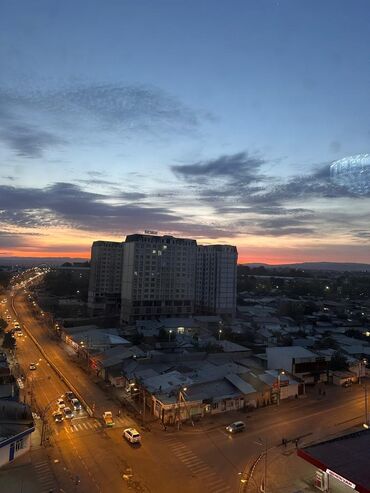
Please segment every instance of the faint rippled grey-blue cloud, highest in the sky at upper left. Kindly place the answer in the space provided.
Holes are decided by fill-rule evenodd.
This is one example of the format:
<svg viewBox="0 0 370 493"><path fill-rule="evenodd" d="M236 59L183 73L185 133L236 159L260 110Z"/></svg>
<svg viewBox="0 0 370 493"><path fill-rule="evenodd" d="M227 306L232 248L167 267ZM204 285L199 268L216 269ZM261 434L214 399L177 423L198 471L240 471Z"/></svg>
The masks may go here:
<svg viewBox="0 0 370 493"><path fill-rule="evenodd" d="M156 135L192 131L205 115L175 97L144 85L78 85L56 91L0 90L0 139L22 157L40 157L46 149L73 141L80 128L105 132L150 132ZM43 128L35 121L44 122ZM54 130L51 130L54 129ZM97 172L91 172L98 178ZM95 173L95 175L93 174Z"/></svg>

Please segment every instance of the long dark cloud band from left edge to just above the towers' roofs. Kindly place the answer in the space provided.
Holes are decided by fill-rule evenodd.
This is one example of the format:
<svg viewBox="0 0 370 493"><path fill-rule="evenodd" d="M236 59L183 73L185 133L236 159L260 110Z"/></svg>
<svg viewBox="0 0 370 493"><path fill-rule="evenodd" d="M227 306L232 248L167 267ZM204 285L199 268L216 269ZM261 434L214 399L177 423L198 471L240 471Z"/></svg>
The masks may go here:
<svg viewBox="0 0 370 493"><path fill-rule="evenodd" d="M199 224L165 207L114 205L110 202L112 198L84 191L71 183L55 183L44 189L2 185L0 223L29 228L73 227L117 235L148 227L209 238L230 234L216 224Z"/></svg>

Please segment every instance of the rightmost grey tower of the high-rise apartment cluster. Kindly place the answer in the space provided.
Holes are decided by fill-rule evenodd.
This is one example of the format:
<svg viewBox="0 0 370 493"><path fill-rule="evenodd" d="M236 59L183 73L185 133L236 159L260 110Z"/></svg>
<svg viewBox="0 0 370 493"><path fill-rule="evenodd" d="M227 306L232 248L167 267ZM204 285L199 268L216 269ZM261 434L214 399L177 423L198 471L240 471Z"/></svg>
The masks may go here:
<svg viewBox="0 0 370 493"><path fill-rule="evenodd" d="M198 246L196 313L235 316L237 260L234 246Z"/></svg>

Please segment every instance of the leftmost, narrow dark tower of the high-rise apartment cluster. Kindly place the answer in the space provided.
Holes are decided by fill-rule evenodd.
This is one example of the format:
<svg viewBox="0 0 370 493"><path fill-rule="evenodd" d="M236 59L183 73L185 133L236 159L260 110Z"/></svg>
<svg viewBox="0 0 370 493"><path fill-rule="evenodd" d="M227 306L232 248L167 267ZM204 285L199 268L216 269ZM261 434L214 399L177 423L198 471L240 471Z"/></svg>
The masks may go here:
<svg viewBox="0 0 370 493"><path fill-rule="evenodd" d="M94 241L91 247L91 266L88 308L92 313L119 313L121 305L123 243Z"/></svg>

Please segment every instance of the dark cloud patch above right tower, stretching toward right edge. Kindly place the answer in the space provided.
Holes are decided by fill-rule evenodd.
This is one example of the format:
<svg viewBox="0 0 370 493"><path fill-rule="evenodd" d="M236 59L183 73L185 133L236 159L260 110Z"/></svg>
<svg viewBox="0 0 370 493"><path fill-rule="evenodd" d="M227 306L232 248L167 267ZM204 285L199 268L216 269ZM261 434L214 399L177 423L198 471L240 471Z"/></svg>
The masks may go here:
<svg viewBox="0 0 370 493"><path fill-rule="evenodd" d="M229 162L234 163L234 166L228 166ZM316 166L309 174L293 176L276 183L273 177L261 174L260 168L264 163L264 160L254 159L250 162L246 153L240 153L222 156L203 164L173 166L172 170L183 178L197 181L195 191L199 199L212 205L216 211L223 211L227 207L245 206L254 208L256 213L259 207L261 213L270 209L274 214L273 209L282 212L282 208L292 202L299 204L317 198L358 197L347 187L331 181L329 164ZM204 179L199 180L198 177ZM226 179L215 186L210 180L213 177Z"/></svg>

